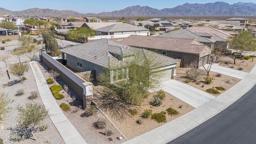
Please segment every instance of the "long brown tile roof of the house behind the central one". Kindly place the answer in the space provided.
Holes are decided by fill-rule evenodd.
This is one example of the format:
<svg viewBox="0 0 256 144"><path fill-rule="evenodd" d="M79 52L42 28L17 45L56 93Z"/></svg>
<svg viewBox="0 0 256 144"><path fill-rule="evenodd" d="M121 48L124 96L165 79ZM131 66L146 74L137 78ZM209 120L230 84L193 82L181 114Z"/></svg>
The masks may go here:
<svg viewBox="0 0 256 144"><path fill-rule="evenodd" d="M200 54L205 49L210 50L208 46L205 46L194 39L185 38L130 35L122 40L121 43L139 48L152 48L156 50L168 50L191 54Z"/></svg>

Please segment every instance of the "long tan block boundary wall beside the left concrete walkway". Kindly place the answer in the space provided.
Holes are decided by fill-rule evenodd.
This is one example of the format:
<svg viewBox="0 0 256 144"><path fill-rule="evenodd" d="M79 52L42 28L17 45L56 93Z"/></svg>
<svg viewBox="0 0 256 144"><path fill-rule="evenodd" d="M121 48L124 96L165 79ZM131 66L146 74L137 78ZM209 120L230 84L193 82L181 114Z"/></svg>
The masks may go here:
<svg viewBox="0 0 256 144"><path fill-rule="evenodd" d="M82 83L86 82L80 76L77 76L74 72L60 64L57 60L54 60L51 56L42 52L42 62L46 64L52 70L60 73L60 78L68 84L68 86L80 97L83 99L83 85Z"/></svg>

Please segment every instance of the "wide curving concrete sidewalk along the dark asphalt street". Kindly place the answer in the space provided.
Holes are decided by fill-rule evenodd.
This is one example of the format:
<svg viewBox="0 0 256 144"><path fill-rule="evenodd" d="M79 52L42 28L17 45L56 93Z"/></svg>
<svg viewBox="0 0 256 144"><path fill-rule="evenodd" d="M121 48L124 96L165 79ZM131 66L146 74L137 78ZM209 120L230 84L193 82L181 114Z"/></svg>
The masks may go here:
<svg viewBox="0 0 256 144"><path fill-rule="evenodd" d="M254 85L256 85L256 66L238 84L216 98L171 122L124 142L124 144L166 144L226 109Z"/></svg>

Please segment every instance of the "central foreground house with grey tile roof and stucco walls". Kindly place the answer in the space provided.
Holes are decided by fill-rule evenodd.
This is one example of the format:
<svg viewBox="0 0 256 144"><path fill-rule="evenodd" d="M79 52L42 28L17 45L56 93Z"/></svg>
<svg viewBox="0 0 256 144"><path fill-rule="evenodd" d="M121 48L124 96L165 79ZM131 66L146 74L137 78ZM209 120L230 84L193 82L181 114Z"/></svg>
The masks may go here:
<svg viewBox="0 0 256 144"><path fill-rule="evenodd" d="M95 40L84 44L60 49L62 55L66 54L66 65L78 72L95 70L95 77L110 70L110 82L116 82L128 78L128 68L126 60L134 58L137 54L142 60L149 55L154 55L158 60L163 60L164 64L154 68L166 73L162 80L170 80L176 75L176 64L178 60L162 56L140 48L132 48L108 39ZM64 58L64 57L63 57Z"/></svg>

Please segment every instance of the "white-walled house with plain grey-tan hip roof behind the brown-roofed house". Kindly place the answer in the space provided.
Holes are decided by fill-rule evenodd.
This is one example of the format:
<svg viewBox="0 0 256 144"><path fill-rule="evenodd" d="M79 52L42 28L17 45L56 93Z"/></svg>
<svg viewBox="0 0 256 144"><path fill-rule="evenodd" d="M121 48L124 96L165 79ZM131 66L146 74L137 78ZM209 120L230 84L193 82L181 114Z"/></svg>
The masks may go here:
<svg viewBox="0 0 256 144"><path fill-rule="evenodd" d="M134 26L132 24L123 24L123 23L112 24L110 26L105 26L103 28L95 29L95 31L96 31L96 36L148 33L147 28L142 28L140 26Z"/></svg>

